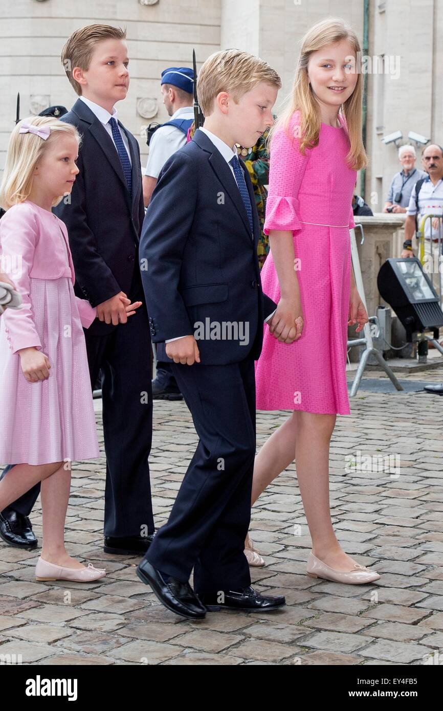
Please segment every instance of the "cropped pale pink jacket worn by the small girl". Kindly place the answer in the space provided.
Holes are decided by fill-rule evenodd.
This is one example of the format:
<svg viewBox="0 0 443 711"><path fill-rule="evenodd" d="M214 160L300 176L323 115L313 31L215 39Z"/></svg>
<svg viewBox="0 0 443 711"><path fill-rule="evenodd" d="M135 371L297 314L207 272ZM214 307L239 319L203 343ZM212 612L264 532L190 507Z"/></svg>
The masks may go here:
<svg viewBox="0 0 443 711"><path fill-rule="evenodd" d="M53 229L55 220L60 225L68 252L58 230ZM1 317L8 336L9 348L16 353L31 346L41 350L41 341L33 320L29 299L29 279L59 279L70 277L75 284L73 259L65 223L56 215L24 201L7 210L0 220L0 271L8 274L23 299L21 309L6 309ZM78 315L84 328L89 328L97 316L97 309L89 301L75 296Z"/></svg>

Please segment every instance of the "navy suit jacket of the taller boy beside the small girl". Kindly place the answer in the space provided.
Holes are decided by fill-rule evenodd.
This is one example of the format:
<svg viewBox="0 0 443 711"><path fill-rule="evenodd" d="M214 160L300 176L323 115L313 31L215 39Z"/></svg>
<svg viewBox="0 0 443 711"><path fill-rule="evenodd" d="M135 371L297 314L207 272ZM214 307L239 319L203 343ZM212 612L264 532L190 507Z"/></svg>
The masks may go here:
<svg viewBox="0 0 443 711"><path fill-rule="evenodd" d="M118 122L127 136L131 152L130 195L110 134L85 102L78 99L60 120L74 124L82 134L77 161L80 173L75 177L70 196L53 208L68 228L75 269L75 294L90 301L92 306L107 301L120 291L128 296L140 296L138 248L144 202L139 144ZM137 315L131 316L131 319L135 318ZM116 326L95 319L88 333L105 335L113 328Z"/></svg>

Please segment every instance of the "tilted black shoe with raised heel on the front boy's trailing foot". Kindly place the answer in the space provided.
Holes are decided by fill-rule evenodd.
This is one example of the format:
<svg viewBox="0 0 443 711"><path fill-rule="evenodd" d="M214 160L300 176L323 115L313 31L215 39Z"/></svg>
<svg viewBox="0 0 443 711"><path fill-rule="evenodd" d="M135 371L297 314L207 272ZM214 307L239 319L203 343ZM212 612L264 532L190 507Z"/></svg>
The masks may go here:
<svg viewBox="0 0 443 711"><path fill-rule="evenodd" d="M146 585L150 585L156 597L165 607L181 617L200 620L206 615L206 607L201 604L188 582L181 582L169 576L165 582L161 572L147 560L142 560L137 567L137 575Z"/></svg>

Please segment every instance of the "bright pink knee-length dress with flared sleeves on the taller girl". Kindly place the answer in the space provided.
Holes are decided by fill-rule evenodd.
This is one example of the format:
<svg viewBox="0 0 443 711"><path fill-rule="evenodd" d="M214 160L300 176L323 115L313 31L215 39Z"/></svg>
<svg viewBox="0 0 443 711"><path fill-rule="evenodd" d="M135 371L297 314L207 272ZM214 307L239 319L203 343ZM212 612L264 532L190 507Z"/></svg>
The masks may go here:
<svg viewBox="0 0 443 711"><path fill-rule="evenodd" d="M299 120L294 112L289 134L294 127L297 134ZM350 144L343 117L340 122L341 128L321 124L318 146L304 156L299 139L290 139L284 129L272 138L265 233L292 231L304 328L298 341L287 344L265 325L255 368L259 410L350 413L346 341L356 171L346 163ZM272 251L262 287L279 301Z"/></svg>

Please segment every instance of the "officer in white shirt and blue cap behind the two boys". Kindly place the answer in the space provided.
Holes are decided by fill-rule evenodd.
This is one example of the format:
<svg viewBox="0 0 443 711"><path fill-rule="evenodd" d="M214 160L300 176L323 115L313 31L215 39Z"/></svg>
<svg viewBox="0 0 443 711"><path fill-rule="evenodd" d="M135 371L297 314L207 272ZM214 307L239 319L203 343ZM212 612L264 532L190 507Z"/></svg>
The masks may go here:
<svg viewBox="0 0 443 711"><path fill-rule="evenodd" d="M143 176L144 205L147 207L166 161L186 144L186 134L194 119L193 70L188 67L169 67L161 73L161 95L171 119L161 124L149 142L149 156ZM157 351L156 378L152 381L154 400L182 400L164 347Z"/></svg>

